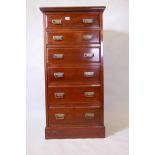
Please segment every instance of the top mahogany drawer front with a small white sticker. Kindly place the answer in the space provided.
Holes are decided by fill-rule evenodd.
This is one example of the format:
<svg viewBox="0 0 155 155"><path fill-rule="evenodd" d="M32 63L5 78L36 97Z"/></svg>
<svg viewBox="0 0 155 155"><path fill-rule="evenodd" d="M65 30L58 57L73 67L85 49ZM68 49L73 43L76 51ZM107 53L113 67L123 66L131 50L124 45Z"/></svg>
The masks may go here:
<svg viewBox="0 0 155 155"><path fill-rule="evenodd" d="M99 28L99 13L54 13L47 14L47 29Z"/></svg>

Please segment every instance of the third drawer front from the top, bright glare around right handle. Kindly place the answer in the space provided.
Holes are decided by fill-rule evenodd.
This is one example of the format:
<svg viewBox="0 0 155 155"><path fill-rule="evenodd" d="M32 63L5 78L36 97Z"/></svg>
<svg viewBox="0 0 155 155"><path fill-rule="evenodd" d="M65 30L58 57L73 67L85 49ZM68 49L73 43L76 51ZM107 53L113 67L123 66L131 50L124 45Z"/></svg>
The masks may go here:
<svg viewBox="0 0 155 155"><path fill-rule="evenodd" d="M48 48L47 52L51 64L100 62L100 48Z"/></svg>

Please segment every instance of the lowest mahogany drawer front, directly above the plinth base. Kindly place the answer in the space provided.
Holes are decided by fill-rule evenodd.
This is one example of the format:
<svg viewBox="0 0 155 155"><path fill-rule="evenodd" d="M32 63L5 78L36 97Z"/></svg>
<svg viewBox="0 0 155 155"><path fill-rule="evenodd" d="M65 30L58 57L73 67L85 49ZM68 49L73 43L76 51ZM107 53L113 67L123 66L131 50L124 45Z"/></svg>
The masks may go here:
<svg viewBox="0 0 155 155"><path fill-rule="evenodd" d="M49 108L49 125L99 125L100 108Z"/></svg>

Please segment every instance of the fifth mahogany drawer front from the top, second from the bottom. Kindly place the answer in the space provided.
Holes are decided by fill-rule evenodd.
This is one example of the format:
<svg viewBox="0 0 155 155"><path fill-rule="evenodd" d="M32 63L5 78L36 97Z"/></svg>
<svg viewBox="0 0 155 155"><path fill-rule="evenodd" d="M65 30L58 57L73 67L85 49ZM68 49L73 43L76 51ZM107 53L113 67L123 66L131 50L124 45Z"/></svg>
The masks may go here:
<svg viewBox="0 0 155 155"><path fill-rule="evenodd" d="M74 103L99 103L100 86L82 87L49 87L48 103L51 105L74 104Z"/></svg>

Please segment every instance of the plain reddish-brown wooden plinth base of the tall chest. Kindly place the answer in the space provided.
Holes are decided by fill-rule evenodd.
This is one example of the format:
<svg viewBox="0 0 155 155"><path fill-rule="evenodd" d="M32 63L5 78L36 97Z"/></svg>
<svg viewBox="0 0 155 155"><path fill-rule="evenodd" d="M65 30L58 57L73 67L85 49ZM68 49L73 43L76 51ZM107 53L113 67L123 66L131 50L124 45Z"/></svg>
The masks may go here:
<svg viewBox="0 0 155 155"><path fill-rule="evenodd" d="M104 138L104 126L52 126L45 129L46 139L62 138Z"/></svg>

